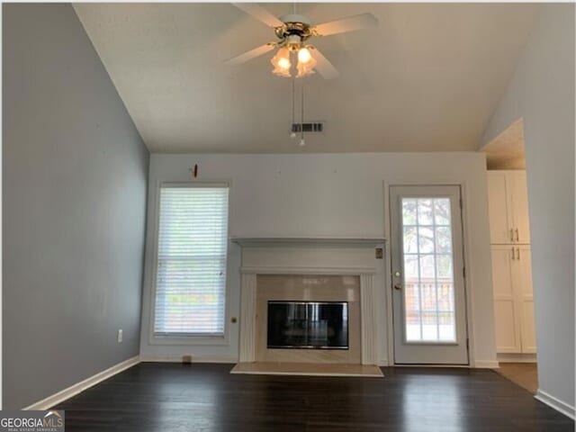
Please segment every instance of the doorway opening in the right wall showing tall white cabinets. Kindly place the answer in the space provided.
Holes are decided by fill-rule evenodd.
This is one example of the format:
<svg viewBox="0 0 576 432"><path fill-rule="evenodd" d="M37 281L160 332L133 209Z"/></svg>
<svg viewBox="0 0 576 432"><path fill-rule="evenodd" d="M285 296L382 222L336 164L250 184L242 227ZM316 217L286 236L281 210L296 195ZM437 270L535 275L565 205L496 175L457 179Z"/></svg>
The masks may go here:
<svg viewBox="0 0 576 432"><path fill-rule="evenodd" d="M487 159L498 372L536 393L536 329L522 119L513 122L482 151Z"/></svg>

